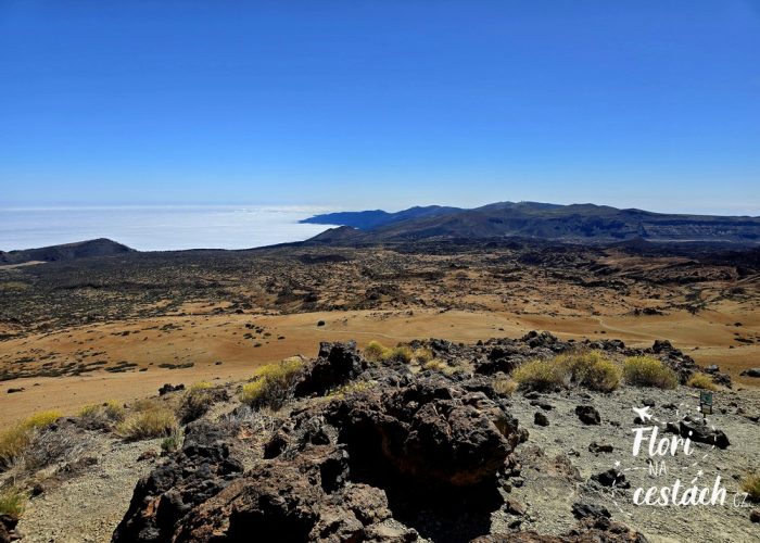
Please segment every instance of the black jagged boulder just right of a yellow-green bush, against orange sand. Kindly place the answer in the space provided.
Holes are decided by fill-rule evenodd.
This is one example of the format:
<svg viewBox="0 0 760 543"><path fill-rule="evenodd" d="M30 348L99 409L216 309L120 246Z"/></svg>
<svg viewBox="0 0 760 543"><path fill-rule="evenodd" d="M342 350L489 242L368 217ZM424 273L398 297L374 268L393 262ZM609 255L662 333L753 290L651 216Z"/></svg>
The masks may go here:
<svg viewBox="0 0 760 543"><path fill-rule="evenodd" d="M356 351L356 342L319 344L319 355L312 363L301 382L295 387L296 396L325 394L358 376L367 362Z"/></svg>

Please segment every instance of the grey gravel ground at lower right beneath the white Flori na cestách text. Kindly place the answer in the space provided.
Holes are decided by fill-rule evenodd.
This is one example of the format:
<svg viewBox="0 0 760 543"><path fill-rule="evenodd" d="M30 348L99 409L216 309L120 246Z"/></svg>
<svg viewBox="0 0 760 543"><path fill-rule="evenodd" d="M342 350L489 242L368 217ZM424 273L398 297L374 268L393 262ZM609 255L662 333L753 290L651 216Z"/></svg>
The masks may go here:
<svg viewBox="0 0 760 543"><path fill-rule="evenodd" d="M698 416L698 391L683 387L673 391L623 387L611 394L588 394L577 390L545 394L536 400L553 408L531 405L531 400L519 393L512 401L512 414L530 430L530 439L518 449L524 484L519 488L512 484L511 492L505 493L507 498L527 506L527 515L521 517L521 529L555 534L566 531L574 523L572 504L583 502L605 506L615 520L637 529L654 543L760 541L760 525L749 520L750 504L744 504L744 507L733 504L734 496L739 492L736 478L760 466L760 424L749 418L760 414L760 394L757 391L745 390L739 394L734 391L717 392L715 414L708 420L726 433L731 446L720 450L696 443L692 455L687 456L683 451L675 456L667 455L661 458L664 459L667 473L659 477L649 476L646 464L648 453L645 450L637 457L633 456L633 429L651 422L634 424L636 414L632 407L642 407L645 400L654 402L655 406L649 412L655 418L662 424L677 421L687 413ZM732 406L732 403L740 406L745 413L740 409L737 413L737 406ZM680 406L677 414L675 409L663 407L668 404ZM578 405L596 407L601 424L588 426L581 422L574 411ZM547 417L549 426L533 422L537 412ZM661 437L670 439L672 435L660 433L658 441ZM613 451L592 453L588 445L594 441L611 444ZM613 492L588 482L592 475L613 468L616 462L620 462L618 469L631 483L630 490ZM694 466L694 463L697 465ZM725 505L679 507L633 504L636 488L672 487L675 479L691 487L699 470L702 471L696 483L699 488L709 485L712 489L715 477L721 477L721 484L727 494ZM508 523L518 518L505 516L503 512L495 517L494 525Z"/></svg>

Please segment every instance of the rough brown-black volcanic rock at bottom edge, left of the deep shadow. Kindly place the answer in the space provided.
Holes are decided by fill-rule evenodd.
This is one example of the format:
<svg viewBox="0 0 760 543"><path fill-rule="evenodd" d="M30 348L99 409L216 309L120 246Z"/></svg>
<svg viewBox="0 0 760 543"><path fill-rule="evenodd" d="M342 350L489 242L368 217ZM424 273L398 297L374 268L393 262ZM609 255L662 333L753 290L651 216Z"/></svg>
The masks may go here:
<svg viewBox="0 0 760 543"><path fill-rule="evenodd" d="M337 484L346 471L347 456L332 445L265 462L193 509L174 541L368 541L391 517L388 498L367 484ZM406 529L400 536L417 539Z"/></svg>

